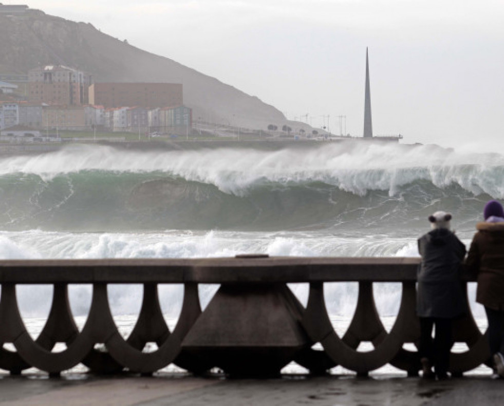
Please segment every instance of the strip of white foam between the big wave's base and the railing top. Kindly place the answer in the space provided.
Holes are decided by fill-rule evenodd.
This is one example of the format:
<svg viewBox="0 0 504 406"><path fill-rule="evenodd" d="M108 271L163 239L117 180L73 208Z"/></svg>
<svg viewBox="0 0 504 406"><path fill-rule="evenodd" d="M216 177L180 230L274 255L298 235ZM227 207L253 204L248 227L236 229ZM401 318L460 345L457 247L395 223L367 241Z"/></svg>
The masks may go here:
<svg viewBox="0 0 504 406"><path fill-rule="evenodd" d="M0 259L410 256L416 239L330 232L166 231L164 233L0 232Z"/></svg>

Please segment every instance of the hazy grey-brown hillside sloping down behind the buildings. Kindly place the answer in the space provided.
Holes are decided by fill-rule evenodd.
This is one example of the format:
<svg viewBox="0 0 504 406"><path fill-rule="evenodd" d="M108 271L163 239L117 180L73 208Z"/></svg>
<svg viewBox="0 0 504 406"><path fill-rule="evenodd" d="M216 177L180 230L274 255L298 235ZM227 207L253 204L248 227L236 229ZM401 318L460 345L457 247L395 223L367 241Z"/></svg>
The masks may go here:
<svg viewBox="0 0 504 406"><path fill-rule="evenodd" d="M184 104L193 117L265 128L286 122L275 107L183 66L143 51L91 24L75 23L30 10L22 16L0 15L0 73L26 74L46 64L62 64L91 73L95 82L183 83Z"/></svg>

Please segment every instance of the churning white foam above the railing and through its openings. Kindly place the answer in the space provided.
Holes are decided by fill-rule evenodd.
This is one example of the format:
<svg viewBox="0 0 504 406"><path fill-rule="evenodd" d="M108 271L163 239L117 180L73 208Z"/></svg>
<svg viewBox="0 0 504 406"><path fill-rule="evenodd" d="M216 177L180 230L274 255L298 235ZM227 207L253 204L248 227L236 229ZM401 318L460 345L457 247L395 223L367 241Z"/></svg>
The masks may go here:
<svg viewBox="0 0 504 406"><path fill-rule="evenodd" d="M469 244L469 240L464 241ZM29 248L27 248L29 247ZM323 232L178 232L165 233L62 233L39 230L0 233L0 259L27 258L175 258L221 257L239 253L268 253L275 256L418 256L416 239L385 236L336 236ZM307 286L291 285L302 303ZM205 306L215 286L200 289ZM326 284L326 304L331 314L351 315L357 300L357 284ZM472 307L478 316L482 308L474 304L474 286L470 286ZM383 316L395 315L401 294L398 284L376 284L375 298ZM47 315L52 287L18 287L25 317ZM70 302L76 315L85 315L90 304L89 286L72 286ZM111 286L109 300L116 315L138 313L140 286ZM181 287L163 286L161 305L165 312L177 314L182 298Z"/></svg>

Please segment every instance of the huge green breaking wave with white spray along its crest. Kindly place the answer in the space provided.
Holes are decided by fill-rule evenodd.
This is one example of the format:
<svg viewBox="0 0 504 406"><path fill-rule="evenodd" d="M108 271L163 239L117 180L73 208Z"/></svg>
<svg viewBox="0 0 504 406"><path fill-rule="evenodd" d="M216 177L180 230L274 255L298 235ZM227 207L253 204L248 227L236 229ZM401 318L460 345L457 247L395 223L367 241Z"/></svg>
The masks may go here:
<svg viewBox="0 0 504 406"><path fill-rule="evenodd" d="M0 159L0 229L416 230L444 209L469 230L503 180L504 156L434 145L79 146Z"/></svg>

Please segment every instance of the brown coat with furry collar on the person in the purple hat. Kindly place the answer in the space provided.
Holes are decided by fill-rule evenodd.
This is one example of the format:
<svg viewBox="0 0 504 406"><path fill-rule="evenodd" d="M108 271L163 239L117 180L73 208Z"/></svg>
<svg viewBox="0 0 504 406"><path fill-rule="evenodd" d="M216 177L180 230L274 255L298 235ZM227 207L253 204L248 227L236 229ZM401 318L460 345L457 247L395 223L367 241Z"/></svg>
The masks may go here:
<svg viewBox="0 0 504 406"><path fill-rule="evenodd" d="M504 223L478 223L465 266L477 275L476 302L504 310Z"/></svg>

